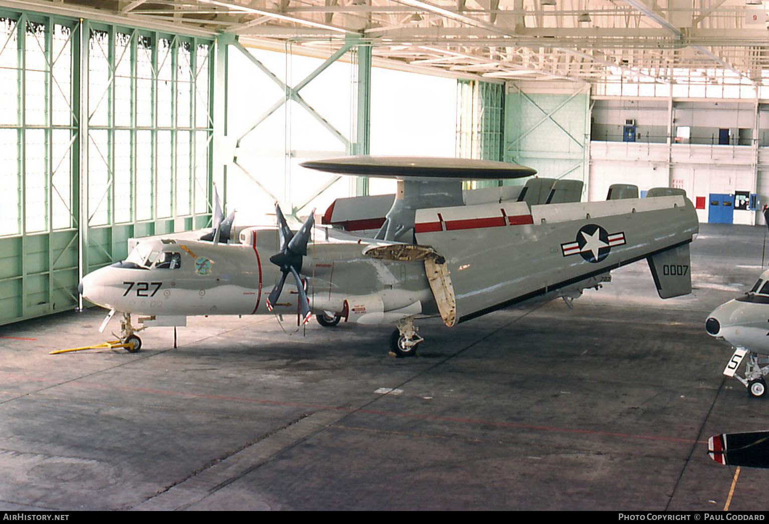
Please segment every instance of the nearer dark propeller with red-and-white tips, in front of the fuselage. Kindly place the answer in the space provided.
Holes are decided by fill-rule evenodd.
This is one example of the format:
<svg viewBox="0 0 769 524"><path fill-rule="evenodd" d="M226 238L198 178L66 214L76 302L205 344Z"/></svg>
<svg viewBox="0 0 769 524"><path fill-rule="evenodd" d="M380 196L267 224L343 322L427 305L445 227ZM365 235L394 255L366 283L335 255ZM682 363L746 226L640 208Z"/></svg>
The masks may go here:
<svg viewBox="0 0 769 524"><path fill-rule="evenodd" d="M312 227L315 225L315 209L304 224L301 224L299 230L294 233L289 229L286 224L285 217L281 212L281 207L275 204L275 214L278 217L278 233L281 237L281 250L278 253L270 257L272 264L281 268L281 278L278 280L278 284L270 291L270 295L267 298L267 308L272 310L273 305L278 303L278 298L281 296L283 290L283 284L285 284L286 277L291 273L294 275L296 281L296 289L299 293L299 308L301 310L302 323L307 323L310 320L312 312L310 311L310 303L305 294L305 287L301 284L301 278L299 277L299 271L301 271L302 258L307 254L307 243L310 240L310 233Z"/></svg>

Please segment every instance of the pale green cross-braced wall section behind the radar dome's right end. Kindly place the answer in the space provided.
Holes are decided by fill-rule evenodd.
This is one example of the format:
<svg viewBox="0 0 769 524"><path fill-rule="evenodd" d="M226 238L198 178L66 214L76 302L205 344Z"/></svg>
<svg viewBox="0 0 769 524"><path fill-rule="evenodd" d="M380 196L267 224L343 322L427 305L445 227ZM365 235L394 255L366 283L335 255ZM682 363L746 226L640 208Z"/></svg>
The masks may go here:
<svg viewBox="0 0 769 524"><path fill-rule="evenodd" d="M504 107L505 161L534 167L540 177L581 180L588 194L590 85L508 84Z"/></svg>

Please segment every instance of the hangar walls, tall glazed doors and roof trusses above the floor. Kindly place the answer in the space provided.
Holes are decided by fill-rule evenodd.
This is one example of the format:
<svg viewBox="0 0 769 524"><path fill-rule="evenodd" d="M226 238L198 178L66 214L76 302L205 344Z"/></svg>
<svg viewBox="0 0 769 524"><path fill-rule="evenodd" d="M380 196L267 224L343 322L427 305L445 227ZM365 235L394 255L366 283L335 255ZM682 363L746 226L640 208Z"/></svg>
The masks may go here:
<svg viewBox="0 0 769 524"><path fill-rule="evenodd" d="M372 152L379 70L457 82L453 130L381 108L448 129L442 154L397 131L390 154L529 165L584 200L681 187L702 222L762 224L763 7L690 3L0 2L0 323L77 307L129 237L204 227L215 183L242 217L393 192L298 167Z"/></svg>

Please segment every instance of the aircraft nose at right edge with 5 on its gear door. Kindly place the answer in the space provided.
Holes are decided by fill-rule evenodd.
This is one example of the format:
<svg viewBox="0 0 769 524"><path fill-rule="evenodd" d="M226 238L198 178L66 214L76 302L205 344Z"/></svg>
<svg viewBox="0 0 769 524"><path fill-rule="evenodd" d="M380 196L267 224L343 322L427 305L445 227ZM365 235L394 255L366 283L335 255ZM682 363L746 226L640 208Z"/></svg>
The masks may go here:
<svg viewBox="0 0 769 524"><path fill-rule="evenodd" d="M764 211L764 218L769 219L769 210ZM724 375L739 380L752 396L764 396L767 391L764 376L769 373L769 270L764 271L742 297L714 309L707 316L705 330L711 337L730 343L734 349ZM743 377L737 374L737 368L746 356Z"/></svg>

